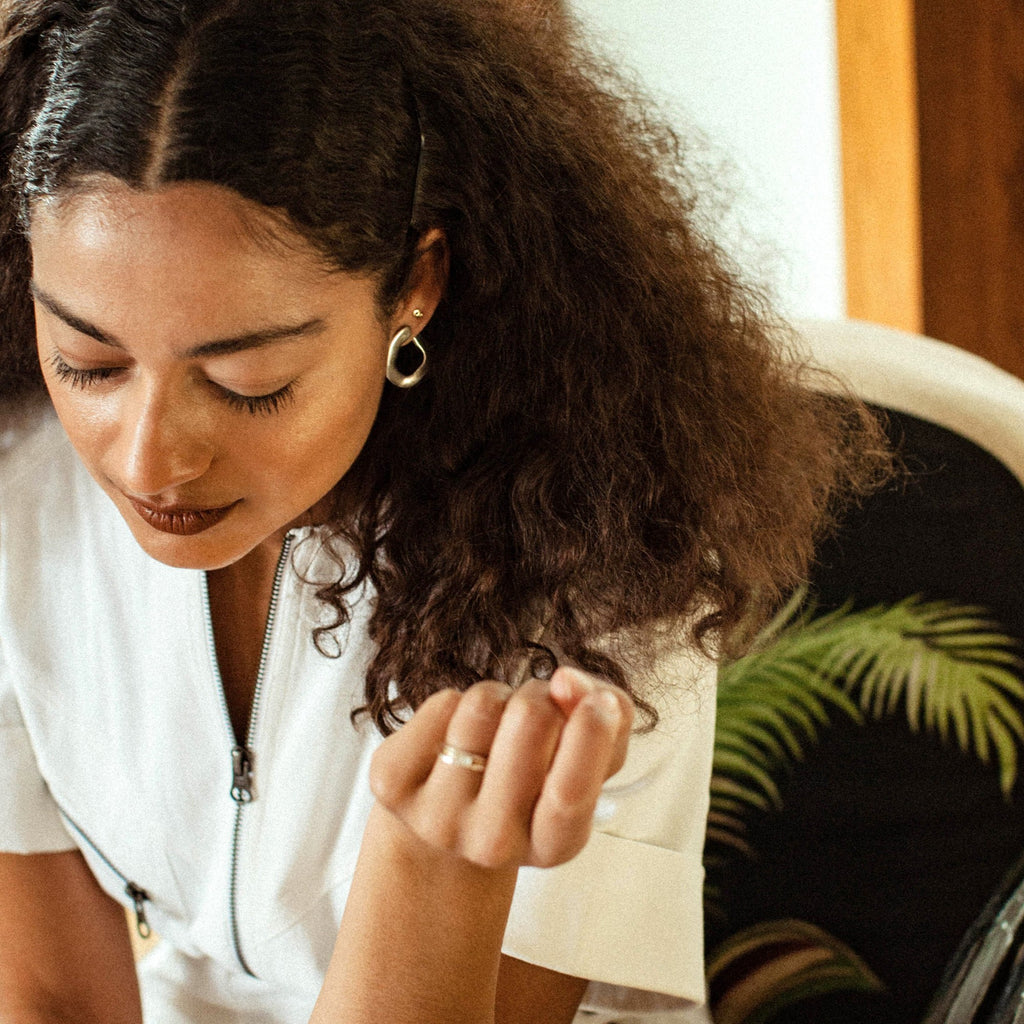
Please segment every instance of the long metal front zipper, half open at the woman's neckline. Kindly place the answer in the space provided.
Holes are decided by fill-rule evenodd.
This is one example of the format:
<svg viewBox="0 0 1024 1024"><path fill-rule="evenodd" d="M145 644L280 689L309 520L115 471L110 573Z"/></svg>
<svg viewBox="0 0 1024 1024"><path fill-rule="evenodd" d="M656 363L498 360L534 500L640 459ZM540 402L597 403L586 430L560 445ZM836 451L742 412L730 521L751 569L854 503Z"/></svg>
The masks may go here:
<svg viewBox="0 0 1024 1024"><path fill-rule="evenodd" d="M249 964L246 962L242 951L242 939L239 932L238 894L239 894L239 846L242 837L242 816L246 806L256 799L255 790L255 766L253 758L253 742L256 735L256 723L259 717L260 700L263 695L263 677L266 672L266 663L270 651L270 637L273 633L273 622L278 613L278 602L281 598L281 585L285 574L285 564L288 560L288 553L292 547L292 534L285 535L285 542L281 547L281 554L278 556L278 564L273 571L273 585L270 588L270 603L267 606L266 627L263 630L263 646L260 648L259 665L256 669L256 684L253 688L253 705L249 712L249 722L246 726L246 735L242 743L239 743L238 736L234 735L234 726L231 724L231 713L227 707L227 697L224 694L224 683L220 678L220 667L217 665L217 644L213 635L213 614L210 611L210 591L207 585L206 573L203 573L203 610L206 616L207 642L210 647L210 660L213 666L213 673L217 681L217 692L220 696L220 709L227 724L227 734L231 737L231 800L234 801L234 825L231 829L231 865L228 872L227 888L227 913L231 928L231 944L234 947L234 956L250 978L255 978Z"/></svg>

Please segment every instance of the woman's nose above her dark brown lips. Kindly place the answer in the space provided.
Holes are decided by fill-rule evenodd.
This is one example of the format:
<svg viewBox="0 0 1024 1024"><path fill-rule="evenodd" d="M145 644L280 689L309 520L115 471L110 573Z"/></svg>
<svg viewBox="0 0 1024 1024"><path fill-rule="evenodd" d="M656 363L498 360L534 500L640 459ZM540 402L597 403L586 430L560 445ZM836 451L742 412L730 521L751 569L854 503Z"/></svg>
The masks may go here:
<svg viewBox="0 0 1024 1024"><path fill-rule="evenodd" d="M156 385L130 389L120 411L111 467L136 498L153 498L201 477L213 459L202 416L182 394Z"/></svg>

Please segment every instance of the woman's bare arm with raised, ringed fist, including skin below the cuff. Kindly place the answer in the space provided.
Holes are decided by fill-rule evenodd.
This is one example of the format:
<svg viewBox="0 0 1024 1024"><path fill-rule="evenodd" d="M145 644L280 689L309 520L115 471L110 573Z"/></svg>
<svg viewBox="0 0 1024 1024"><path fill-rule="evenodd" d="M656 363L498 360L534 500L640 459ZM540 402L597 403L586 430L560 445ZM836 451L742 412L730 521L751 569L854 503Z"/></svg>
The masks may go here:
<svg viewBox="0 0 1024 1024"><path fill-rule="evenodd" d="M585 981L507 957L516 991L498 1005L502 938L519 866L586 844L632 721L625 693L572 669L426 700L374 757L377 805L315 1024L571 1020Z"/></svg>

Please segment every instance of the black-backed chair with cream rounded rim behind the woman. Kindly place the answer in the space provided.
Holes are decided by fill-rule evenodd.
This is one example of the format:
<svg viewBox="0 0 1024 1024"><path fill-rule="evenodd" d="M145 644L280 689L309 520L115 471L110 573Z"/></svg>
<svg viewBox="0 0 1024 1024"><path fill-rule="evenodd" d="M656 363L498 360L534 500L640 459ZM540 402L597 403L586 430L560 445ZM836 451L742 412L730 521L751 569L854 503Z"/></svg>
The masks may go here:
<svg viewBox="0 0 1024 1024"><path fill-rule="evenodd" d="M794 354L831 375L821 387L880 409L907 469L822 546L813 578L821 605L922 593L985 605L1024 640L1024 382L877 325L795 328ZM752 822L759 860L730 877L729 927L811 922L860 954L890 992L822 995L772 1021L911 1024L931 1004L927 1024L1016 1024L971 1016L970 1007L1011 985L1024 890L998 883L1024 848L1022 790L1004 801L994 772L911 735L896 716L827 729L785 783L782 811ZM972 928L993 891L1001 899Z"/></svg>

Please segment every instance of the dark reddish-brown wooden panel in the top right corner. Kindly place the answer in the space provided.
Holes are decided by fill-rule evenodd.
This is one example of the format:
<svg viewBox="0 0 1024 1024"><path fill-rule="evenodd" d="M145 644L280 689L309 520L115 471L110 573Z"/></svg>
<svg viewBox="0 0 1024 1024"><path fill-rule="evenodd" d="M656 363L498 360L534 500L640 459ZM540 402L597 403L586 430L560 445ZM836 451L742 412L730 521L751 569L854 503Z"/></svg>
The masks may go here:
<svg viewBox="0 0 1024 1024"><path fill-rule="evenodd" d="M1024 4L915 22L925 330L1024 376Z"/></svg>

